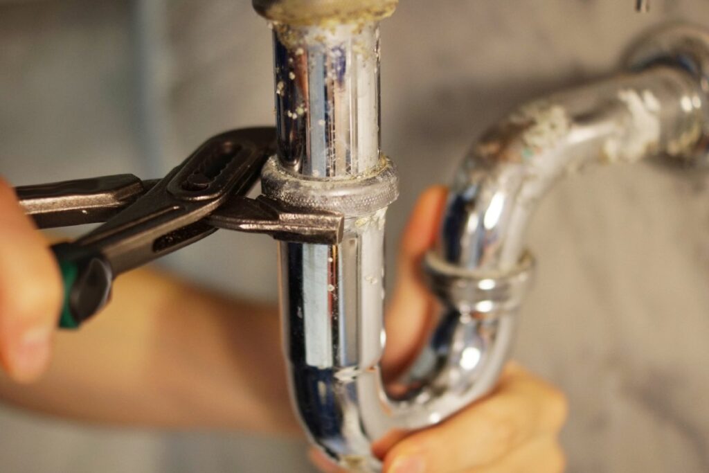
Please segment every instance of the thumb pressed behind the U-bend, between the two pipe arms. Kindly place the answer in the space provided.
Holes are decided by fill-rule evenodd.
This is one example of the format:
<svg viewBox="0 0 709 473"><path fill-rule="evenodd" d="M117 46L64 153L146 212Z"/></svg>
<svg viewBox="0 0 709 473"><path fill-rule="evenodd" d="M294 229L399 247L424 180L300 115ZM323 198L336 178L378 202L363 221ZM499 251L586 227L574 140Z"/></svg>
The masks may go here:
<svg viewBox="0 0 709 473"><path fill-rule="evenodd" d="M420 278L420 261L435 243L447 189L431 187L418 199L401 239L396 289L386 316L387 378L401 372L428 334L432 298Z"/></svg>

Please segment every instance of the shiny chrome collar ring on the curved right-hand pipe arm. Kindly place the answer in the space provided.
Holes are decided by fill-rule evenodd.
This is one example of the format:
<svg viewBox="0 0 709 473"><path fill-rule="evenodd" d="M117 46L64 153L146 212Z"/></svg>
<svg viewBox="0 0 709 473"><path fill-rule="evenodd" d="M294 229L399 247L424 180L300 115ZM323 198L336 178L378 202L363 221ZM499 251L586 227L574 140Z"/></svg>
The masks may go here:
<svg viewBox="0 0 709 473"><path fill-rule="evenodd" d="M536 262L528 251L507 272L480 271L452 267L428 252L423 261L430 288L440 301L460 313L493 320L515 311L532 284Z"/></svg>

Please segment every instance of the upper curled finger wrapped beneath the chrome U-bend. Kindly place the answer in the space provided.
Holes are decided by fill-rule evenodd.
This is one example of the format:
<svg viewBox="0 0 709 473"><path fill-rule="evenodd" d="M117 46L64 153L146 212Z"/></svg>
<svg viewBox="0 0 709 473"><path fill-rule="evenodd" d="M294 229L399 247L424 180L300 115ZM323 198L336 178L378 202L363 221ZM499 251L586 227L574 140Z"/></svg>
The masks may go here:
<svg viewBox="0 0 709 473"><path fill-rule="evenodd" d="M489 464L535 435L557 433L565 418L563 394L510 365L493 394L394 446L384 471L398 472L403 464L418 463L423 465L421 473L449 473Z"/></svg>

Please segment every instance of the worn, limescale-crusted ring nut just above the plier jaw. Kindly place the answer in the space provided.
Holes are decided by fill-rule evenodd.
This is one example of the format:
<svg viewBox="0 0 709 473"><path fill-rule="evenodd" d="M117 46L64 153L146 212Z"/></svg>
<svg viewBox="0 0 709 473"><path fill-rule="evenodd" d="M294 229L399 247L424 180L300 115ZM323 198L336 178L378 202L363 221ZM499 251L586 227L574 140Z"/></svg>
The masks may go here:
<svg viewBox="0 0 709 473"><path fill-rule="evenodd" d="M324 210L359 216L386 208L398 197L396 167L381 155L372 174L352 179L303 177L290 172L276 156L261 172L263 193L279 201L309 210Z"/></svg>

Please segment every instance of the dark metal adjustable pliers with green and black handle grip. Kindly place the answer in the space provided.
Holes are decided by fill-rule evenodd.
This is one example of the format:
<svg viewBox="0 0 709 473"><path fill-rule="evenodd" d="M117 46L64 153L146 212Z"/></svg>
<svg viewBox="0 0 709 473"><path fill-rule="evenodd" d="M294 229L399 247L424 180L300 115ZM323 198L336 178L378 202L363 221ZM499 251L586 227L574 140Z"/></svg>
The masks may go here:
<svg viewBox="0 0 709 473"><path fill-rule="evenodd" d="M40 228L104 225L52 246L62 270L60 327L77 328L108 301L118 274L179 250L218 228L278 240L335 244L342 215L245 196L275 149L274 128L210 138L163 179L132 174L18 187L20 204Z"/></svg>

